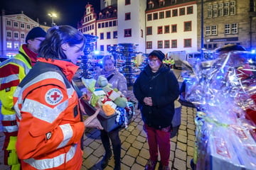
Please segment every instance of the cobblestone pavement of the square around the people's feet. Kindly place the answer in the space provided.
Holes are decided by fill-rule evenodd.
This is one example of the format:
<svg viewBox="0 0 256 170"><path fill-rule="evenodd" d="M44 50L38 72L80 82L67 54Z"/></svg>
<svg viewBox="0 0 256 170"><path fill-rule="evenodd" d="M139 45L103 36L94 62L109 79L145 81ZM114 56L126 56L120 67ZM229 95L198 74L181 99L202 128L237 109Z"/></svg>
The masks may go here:
<svg viewBox="0 0 256 170"><path fill-rule="evenodd" d="M174 72L178 77L178 72ZM132 91L128 95L133 101L136 101ZM132 118L132 123L127 129L119 132L122 141L122 170L144 170L144 166L149 159L149 147L146 142L146 134L142 129L143 122L139 110ZM195 124L196 116L195 108L182 106L181 108L181 126L176 137L171 138L171 156L169 165L173 170L191 169L190 161L193 157L193 145L195 140ZM1 124L0 124L1 130ZM0 147L2 147L4 135L0 132ZM102 142L100 140L100 131L95 128L87 128L85 130L84 154L82 162L82 170L96 170L100 168L100 161L105 153ZM156 169L159 164L156 165ZM105 170L113 169L114 157L110 159L109 165ZM0 169L9 170L3 165L3 152L0 154Z"/></svg>

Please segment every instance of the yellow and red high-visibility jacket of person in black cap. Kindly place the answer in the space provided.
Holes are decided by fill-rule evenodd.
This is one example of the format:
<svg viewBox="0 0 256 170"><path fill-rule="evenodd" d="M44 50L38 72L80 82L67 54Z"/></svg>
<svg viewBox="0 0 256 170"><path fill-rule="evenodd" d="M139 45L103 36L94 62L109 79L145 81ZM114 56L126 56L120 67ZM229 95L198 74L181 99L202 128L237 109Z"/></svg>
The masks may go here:
<svg viewBox="0 0 256 170"><path fill-rule="evenodd" d="M6 60L0 64L0 101L1 113L3 115L2 124L5 135L16 136L18 127L16 125L16 116L13 109L14 91L21 80L31 69L31 60L29 59L22 46L19 51L24 55L18 54L14 58Z"/></svg>

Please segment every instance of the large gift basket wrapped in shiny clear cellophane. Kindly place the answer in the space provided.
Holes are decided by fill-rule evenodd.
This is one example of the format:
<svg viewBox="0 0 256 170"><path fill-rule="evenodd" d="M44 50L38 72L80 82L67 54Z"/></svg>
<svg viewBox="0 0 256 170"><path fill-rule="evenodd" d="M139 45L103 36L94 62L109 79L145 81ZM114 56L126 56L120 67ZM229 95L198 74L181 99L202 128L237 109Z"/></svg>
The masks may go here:
<svg viewBox="0 0 256 170"><path fill-rule="evenodd" d="M195 119L196 169L256 169L255 55L231 51L193 67L186 100Z"/></svg>

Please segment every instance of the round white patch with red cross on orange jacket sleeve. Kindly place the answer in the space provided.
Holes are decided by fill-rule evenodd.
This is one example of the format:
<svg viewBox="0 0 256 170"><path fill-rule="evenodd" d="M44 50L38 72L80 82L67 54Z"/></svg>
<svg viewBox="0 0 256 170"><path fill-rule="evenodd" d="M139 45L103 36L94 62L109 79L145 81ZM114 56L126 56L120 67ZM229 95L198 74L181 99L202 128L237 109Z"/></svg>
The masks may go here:
<svg viewBox="0 0 256 170"><path fill-rule="evenodd" d="M53 88L46 92L45 99L49 105L56 105L63 99L63 94L60 89Z"/></svg>

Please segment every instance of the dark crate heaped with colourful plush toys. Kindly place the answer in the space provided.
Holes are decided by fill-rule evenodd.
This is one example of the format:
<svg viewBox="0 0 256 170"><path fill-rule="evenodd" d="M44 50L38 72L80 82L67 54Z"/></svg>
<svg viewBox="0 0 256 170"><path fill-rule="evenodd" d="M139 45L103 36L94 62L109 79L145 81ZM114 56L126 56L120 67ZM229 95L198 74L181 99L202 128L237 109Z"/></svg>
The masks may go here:
<svg viewBox="0 0 256 170"><path fill-rule="evenodd" d="M112 89L105 77L97 79L100 87L95 87L95 79L82 78L82 83L88 90L85 97L80 99L82 113L89 116L85 126L107 132L127 128L135 113L135 102L127 100L117 89Z"/></svg>

